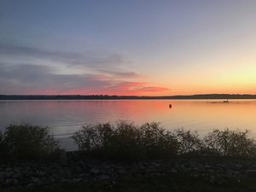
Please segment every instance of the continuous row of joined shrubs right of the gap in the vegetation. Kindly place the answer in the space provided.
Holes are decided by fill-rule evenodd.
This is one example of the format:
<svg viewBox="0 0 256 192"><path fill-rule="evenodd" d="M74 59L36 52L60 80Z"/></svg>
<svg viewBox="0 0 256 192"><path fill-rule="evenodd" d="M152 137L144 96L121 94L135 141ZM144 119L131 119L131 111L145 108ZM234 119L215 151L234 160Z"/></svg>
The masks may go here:
<svg viewBox="0 0 256 192"><path fill-rule="evenodd" d="M197 131L166 131L160 123L83 126L73 135L79 151L103 159L155 160L177 156L254 158L256 142L249 131L213 130L203 139Z"/></svg>

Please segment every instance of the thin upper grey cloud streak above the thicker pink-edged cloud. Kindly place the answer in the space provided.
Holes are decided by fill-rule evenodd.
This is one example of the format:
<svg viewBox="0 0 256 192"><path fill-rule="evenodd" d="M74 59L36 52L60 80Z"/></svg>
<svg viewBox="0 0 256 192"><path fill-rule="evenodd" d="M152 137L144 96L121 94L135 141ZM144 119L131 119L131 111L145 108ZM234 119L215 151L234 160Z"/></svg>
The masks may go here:
<svg viewBox="0 0 256 192"><path fill-rule="evenodd" d="M49 61L59 61L73 66L86 67L111 67L123 63L129 63L125 55L110 53L108 51L84 51L83 53L67 51L50 51L26 46L10 44L0 44L0 55L12 57L32 57L38 59L48 59Z"/></svg>

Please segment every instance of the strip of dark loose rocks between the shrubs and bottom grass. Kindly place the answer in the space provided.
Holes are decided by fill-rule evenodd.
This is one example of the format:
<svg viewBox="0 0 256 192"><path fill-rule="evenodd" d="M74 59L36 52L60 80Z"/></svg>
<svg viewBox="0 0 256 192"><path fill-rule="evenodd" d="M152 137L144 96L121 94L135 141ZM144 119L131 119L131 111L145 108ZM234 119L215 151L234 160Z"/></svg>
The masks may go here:
<svg viewBox="0 0 256 192"><path fill-rule="evenodd" d="M186 173L191 177L222 184L227 177L256 176L255 160L147 160L113 162L83 160L77 152L62 151L60 160L49 162L6 163L0 165L0 189L37 188L55 183L95 181L114 184L123 177L160 176Z"/></svg>

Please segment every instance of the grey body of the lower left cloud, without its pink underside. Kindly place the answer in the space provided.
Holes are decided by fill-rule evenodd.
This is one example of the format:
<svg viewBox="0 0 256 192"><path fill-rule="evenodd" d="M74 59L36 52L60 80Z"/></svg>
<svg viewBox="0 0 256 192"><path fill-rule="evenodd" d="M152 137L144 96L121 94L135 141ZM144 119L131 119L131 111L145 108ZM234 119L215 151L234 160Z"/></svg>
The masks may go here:
<svg viewBox="0 0 256 192"><path fill-rule="evenodd" d="M16 66L0 65L2 91L13 87L27 90L68 90L102 88L110 83L97 75L63 75L51 73L52 67L20 64ZM5 87L5 88L4 88Z"/></svg>

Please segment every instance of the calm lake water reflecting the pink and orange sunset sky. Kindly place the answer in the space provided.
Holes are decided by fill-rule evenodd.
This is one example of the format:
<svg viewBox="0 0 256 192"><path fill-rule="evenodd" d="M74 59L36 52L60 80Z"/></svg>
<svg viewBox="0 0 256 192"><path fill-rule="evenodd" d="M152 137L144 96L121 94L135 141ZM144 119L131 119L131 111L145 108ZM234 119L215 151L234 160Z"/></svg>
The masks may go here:
<svg viewBox="0 0 256 192"><path fill-rule="evenodd" d="M172 104L172 108L169 108ZM166 130L183 127L201 136L212 129L239 128L256 133L255 100L125 100L125 101L0 101L0 130L21 122L49 126L61 147L75 149L69 138L82 125L114 123L137 125L161 122Z"/></svg>

